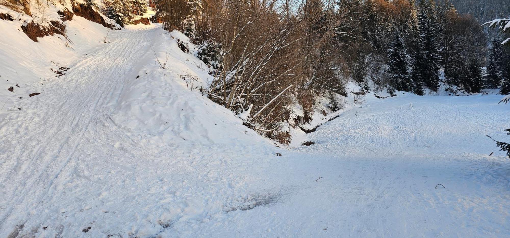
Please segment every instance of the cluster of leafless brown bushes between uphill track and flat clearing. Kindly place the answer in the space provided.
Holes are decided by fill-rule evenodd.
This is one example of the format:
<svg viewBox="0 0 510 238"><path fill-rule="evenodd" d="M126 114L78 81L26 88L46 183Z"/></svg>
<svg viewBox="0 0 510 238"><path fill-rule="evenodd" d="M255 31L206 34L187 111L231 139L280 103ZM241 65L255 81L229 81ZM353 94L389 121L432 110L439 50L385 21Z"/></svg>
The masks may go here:
<svg viewBox="0 0 510 238"><path fill-rule="evenodd" d="M193 22L197 38L221 45L209 97L237 113L250 110L253 129L287 140L280 127L290 106L311 114L318 93L345 94L338 61L348 46L342 38L352 37L351 20L333 1L163 2L167 30Z"/></svg>

